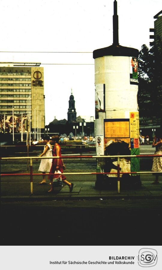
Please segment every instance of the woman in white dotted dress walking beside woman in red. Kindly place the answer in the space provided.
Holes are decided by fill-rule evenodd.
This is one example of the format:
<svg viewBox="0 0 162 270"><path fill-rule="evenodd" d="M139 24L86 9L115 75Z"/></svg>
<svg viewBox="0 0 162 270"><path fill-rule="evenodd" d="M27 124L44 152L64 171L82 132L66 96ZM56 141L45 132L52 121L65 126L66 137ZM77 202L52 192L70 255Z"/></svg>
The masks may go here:
<svg viewBox="0 0 162 270"><path fill-rule="evenodd" d="M49 137L45 136L44 137L44 142L46 145L44 146L44 151L41 153L40 156L52 156L52 146L49 143ZM46 183L46 172L50 171L52 165L52 159L41 159L41 164L39 166L38 171L42 171L43 175L43 180L39 183L40 185L43 185Z"/></svg>

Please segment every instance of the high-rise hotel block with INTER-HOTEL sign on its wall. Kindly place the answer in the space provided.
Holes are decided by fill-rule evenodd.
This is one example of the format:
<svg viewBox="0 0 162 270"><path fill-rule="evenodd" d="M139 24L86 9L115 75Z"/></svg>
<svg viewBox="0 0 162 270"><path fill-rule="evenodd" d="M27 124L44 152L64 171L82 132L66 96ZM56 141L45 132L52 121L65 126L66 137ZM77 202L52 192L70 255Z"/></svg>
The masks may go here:
<svg viewBox="0 0 162 270"><path fill-rule="evenodd" d="M44 68L41 63L0 62L1 114L25 114L31 104L31 128L45 127ZM28 108L27 108L28 107ZM35 119L34 119L35 118Z"/></svg>

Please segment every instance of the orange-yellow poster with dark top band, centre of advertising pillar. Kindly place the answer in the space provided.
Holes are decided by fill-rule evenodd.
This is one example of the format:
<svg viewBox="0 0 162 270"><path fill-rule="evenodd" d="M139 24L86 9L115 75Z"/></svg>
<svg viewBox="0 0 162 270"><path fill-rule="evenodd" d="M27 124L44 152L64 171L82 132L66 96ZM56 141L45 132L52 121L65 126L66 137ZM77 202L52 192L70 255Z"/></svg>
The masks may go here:
<svg viewBox="0 0 162 270"><path fill-rule="evenodd" d="M130 138L129 119L105 119L105 138Z"/></svg>

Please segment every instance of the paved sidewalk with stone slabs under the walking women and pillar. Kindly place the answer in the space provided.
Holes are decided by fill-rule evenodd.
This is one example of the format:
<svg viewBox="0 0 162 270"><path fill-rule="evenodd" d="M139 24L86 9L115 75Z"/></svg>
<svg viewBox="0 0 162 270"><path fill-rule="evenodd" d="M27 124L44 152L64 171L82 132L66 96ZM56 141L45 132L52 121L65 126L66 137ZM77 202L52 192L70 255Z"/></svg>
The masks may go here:
<svg viewBox="0 0 162 270"><path fill-rule="evenodd" d="M39 185L40 177L33 179L33 195L30 195L29 177L2 177L1 178L1 201L48 201L48 200L83 200L83 199L162 199L162 176L159 177L159 184L152 185L154 176L142 174L142 187L137 190L116 190L95 189L95 175L71 175L68 181L74 184L72 193L69 187L64 185L55 188L54 192L48 193L49 181L45 185Z"/></svg>

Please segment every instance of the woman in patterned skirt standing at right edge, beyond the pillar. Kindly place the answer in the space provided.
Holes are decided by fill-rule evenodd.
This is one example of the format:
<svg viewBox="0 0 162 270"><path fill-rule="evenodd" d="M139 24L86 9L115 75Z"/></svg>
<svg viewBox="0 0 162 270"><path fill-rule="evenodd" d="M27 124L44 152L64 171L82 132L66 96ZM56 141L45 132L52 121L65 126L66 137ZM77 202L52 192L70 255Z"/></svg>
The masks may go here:
<svg viewBox="0 0 162 270"><path fill-rule="evenodd" d="M155 155L162 155L162 136L156 134L154 137L154 141L152 143L152 147L156 147ZM160 171L162 172L162 157L154 157L152 171ZM154 175L154 174L153 174ZM159 174L155 174L155 181L152 184L159 184L158 181Z"/></svg>

